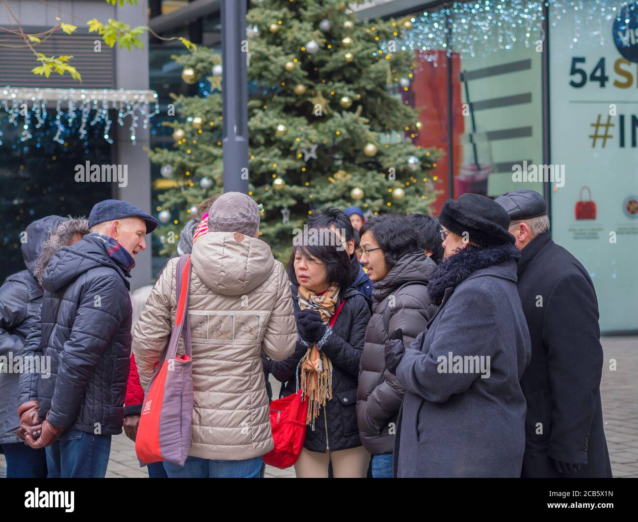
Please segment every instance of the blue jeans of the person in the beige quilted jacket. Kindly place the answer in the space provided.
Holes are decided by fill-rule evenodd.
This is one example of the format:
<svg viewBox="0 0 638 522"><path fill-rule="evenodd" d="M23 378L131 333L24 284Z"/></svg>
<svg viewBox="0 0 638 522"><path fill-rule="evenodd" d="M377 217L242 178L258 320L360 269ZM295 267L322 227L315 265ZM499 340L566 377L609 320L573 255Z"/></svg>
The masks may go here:
<svg viewBox="0 0 638 522"><path fill-rule="evenodd" d="M262 457L248 460L208 460L188 457L184 467L171 462L164 463L171 479L258 479L262 471Z"/></svg>

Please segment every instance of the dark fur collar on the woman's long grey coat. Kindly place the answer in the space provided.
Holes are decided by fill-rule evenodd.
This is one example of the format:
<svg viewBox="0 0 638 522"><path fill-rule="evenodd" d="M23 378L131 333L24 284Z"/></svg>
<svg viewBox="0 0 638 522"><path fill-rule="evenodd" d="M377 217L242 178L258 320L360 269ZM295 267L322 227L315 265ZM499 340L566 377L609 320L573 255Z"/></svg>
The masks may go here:
<svg viewBox="0 0 638 522"><path fill-rule="evenodd" d="M435 305L440 305L445 289L456 287L477 270L491 266L496 267L506 261L517 261L520 258L521 250L514 245L500 245L490 248L468 245L464 249L457 249L454 256L448 257L434 268L427 284L427 293ZM512 266L512 270L493 270L489 275L516 282L516 264Z"/></svg>

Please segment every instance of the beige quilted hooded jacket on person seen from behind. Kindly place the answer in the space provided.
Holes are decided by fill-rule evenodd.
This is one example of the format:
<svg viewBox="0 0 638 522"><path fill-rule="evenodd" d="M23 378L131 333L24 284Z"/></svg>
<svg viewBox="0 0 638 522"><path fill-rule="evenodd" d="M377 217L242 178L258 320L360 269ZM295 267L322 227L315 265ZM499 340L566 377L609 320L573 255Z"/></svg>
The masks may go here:
<svg viewBox="0 0 638 522"><path fill-rule="evenodd" d="M135 325L133 353L144 389L175 324L177 261L168 261ZM201 236L191 261L195 403L188 454L211 460L263 455L273 443L261 354L281 361L297 340L288 275L267 243L239 233Z"/></svg>

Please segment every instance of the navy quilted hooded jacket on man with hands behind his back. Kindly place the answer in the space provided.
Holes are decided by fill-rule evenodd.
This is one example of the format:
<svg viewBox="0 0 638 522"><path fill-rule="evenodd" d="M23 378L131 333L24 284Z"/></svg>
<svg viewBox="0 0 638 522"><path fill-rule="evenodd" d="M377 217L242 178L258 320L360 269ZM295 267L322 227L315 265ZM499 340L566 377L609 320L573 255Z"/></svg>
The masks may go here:
<svg viewBox="0 0 638 522"><path fill-rule="evenodd" d="M32 330L27 343L51 358L50 378L38 378L36 395L40 418L48 413L56 428L99 429L102 435L122 431L131 357L126 277L128 271L93 234L61 248L48 263L41 338ZM21 398L28 400L31 385L20 379Z"/></svg>

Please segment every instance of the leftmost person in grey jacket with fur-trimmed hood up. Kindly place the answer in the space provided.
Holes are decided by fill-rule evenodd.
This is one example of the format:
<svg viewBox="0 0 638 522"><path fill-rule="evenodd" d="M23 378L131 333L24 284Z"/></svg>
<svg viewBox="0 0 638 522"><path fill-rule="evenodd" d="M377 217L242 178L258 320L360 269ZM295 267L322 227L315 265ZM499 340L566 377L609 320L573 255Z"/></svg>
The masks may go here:
<svg viewBox="0 0 638 522"><path fill-rule="evenodd" d="M22 370L26 371L29 360L24 346L40 314L43 296L38 282L43 267L41 263L38 266L38 254L50 252L52 255L53 243L71 245L88 231L86 219L66 219L59 215L43 217L27 226L21 245L26 270L10 275L0 287L0 356L9 359L9 365L15 365L10 362L11 358L14 361L22 358ZM40 367L40 371L44 370ZM43 479L47 477L45 450L33 449L24 443L26 429L40 424L38 401L27 400L18 408L19 381L20 373L1 368L0 445L6 458L6 476Z"/></svg>

